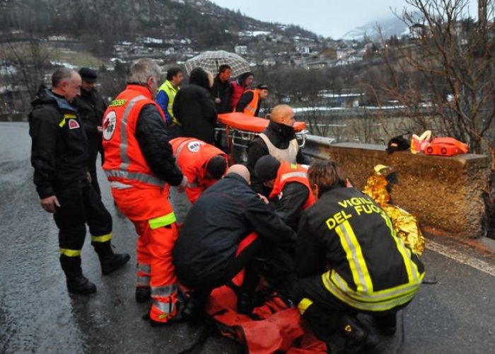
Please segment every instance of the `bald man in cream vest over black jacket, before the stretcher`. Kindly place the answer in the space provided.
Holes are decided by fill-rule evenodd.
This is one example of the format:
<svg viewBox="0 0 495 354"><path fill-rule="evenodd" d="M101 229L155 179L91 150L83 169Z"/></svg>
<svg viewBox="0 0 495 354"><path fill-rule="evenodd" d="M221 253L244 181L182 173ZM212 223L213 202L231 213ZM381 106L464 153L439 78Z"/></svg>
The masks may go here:
<svg viewBox="0 0 495 354"><path fill-rule="evenodd" d="M276 105L272 110L269 125L255 137L248 146L248 169L255 174L255 165L264 155L272 155L279 161L291 164L309 164L310 159L299 149L293 125L296 122L289 105ZM268 194L262 183L253 176L252 189L257 193Z"/></svg>

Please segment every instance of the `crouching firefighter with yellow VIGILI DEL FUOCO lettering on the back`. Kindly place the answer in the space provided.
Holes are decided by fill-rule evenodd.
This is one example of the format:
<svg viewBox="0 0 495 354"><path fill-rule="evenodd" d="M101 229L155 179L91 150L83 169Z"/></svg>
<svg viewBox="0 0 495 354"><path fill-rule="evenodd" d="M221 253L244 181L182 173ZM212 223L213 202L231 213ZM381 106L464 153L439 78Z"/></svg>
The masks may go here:
<svg viewBox="0 0 495 354"><path fill-rule="evenodd" d="M314 161L308 178L317 201L299 223L294 300L321 340L342 333L366 349L376 343L355 314L395 333L396 312L413 299L424 266L374 200L346 188L337 163Z"/></svg>

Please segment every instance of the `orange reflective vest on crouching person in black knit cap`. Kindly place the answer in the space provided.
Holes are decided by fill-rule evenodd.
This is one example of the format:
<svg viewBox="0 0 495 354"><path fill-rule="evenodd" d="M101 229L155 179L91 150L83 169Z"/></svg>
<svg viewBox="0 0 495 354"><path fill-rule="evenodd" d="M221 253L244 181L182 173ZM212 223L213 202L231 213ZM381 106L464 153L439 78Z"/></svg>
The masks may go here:
<svg viewBox="0 0 495 354"><path fill-rule="evenodd" d="M274 198L282 192L286 183L298 182L305 185L308 188L308 199L303 205L303 210L308 209L311 205L315 204L315 196L311 191L308 181L308 166L301 164L290 164L289 162L282 161L279 167L279 171L276 173L276 179L270 193L269 198Z"/></svg>

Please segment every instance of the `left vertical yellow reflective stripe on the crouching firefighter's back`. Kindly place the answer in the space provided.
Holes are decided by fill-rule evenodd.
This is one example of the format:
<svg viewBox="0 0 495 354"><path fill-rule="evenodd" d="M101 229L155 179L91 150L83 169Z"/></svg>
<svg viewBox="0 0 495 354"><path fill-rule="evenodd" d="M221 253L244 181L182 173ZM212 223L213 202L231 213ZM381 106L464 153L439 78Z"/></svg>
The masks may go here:
<svg viewBox="0 0 495 354"><path fill-rule="evenodd" d="M340 243L346 253L357 292L373 292L371 276L364 261L361 246L349 221L346 220L336 227L335 232L339 235Z"/></svg>

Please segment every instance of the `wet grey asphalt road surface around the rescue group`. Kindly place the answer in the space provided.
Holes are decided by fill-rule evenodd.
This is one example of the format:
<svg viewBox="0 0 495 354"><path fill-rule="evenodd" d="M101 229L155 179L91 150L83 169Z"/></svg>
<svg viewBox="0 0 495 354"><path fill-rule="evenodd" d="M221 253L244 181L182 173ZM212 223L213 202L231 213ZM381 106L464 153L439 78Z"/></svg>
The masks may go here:
<svg viewBox="0 0 495 354"><path fill-rule="evenodd" d="M134 228L115 210L101 174L103 200L114 221L113 244L116 251L130 253L132 261L103 277L87 239L83 271L98 292L91 297L67 293L57 227L40 207L29 156L27 123L0 122L0 353L178 353L189 348L201 328L153 329L141 319L148 305L134 301ZM438 283L423 285L400 314L404 332L399 330L387 352L495 353L495 277L429 250L423 261ZM203 353L240 353L240 347L212 337Z"/></svg>

